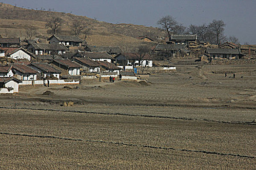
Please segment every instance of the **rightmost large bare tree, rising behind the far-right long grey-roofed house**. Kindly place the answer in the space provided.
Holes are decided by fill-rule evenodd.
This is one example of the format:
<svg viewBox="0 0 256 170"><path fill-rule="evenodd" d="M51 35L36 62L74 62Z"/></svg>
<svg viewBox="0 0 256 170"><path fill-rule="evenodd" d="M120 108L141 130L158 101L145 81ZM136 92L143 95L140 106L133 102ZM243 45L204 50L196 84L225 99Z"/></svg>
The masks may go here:
<svg viewBox="0 0 256 170"><path fill-rule="evenodd" d="M226 37L224 35L224 27L225 23L223 20L213 20L212 23L208 25L208 29L212 32L212 34L216 37L216 44L219 45L226 40Z"/></svg>

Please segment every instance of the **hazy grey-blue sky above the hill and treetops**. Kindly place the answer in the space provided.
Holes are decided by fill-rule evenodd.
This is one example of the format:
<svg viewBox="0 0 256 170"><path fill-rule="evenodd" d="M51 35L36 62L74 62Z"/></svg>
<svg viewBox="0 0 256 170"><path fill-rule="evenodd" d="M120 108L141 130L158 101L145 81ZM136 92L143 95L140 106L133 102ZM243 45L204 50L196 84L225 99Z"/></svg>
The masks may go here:
<svg viewBox="0 0 256 170"><path fill-rule="evenodd" d="M184 26L208 24L214 19L226 24L225 35L235 35L241 44L256 44L256 0L0 0L23 8L49 8L57 12L96 18L110 23L158 27L170 15Z"/></svg>

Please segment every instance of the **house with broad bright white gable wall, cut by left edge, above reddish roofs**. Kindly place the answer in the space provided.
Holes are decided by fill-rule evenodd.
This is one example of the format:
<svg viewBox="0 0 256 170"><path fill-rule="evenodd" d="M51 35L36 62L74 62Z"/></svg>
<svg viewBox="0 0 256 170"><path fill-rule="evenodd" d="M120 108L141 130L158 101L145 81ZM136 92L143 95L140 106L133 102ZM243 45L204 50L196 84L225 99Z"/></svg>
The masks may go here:
<svg viewBox="0 0 256 170"><path fill-rule="evenodd" d="M34 57L34 55L29 52L26 51L23 48L2 48L0 47L0 56L2 57L8 57L8 58L12 58L12 59L16 59L16 60L20 60L20 59L26 59L28 61L31 60L31 57Z"/></svg>

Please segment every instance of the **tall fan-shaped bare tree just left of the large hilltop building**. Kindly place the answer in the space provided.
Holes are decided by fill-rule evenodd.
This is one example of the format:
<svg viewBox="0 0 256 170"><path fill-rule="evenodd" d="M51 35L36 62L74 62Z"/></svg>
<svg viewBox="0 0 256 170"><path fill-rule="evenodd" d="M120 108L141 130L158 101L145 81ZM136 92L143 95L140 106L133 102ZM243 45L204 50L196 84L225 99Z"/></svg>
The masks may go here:
<svg viewBox="0 0 256 170"><path fill-rule="evenodd" d="M171 37L171 32L174 30L174 27L177 25L175 17L165 16L158 20L158 25L160 25L164 30L166 30L169 37Z"/></svg>

